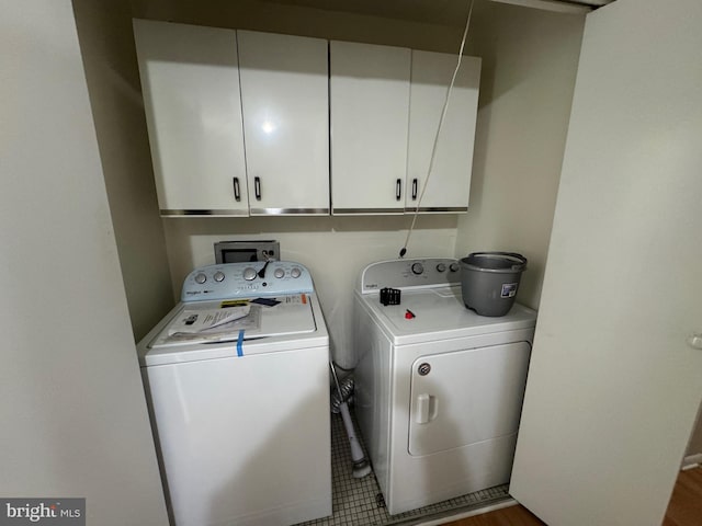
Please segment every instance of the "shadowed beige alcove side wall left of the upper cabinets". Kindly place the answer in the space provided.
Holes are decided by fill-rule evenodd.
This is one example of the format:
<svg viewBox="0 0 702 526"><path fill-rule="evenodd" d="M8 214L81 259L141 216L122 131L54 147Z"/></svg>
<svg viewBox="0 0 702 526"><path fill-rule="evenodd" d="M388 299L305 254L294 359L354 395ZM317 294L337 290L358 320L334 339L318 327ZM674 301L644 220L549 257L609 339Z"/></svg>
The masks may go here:
<svg viewBox="0 0 702 526"><path fill-rule="evenodd" d="M126 0L75 0L100 160L132 329L139 340L173 306L163 227Z"/></svg>

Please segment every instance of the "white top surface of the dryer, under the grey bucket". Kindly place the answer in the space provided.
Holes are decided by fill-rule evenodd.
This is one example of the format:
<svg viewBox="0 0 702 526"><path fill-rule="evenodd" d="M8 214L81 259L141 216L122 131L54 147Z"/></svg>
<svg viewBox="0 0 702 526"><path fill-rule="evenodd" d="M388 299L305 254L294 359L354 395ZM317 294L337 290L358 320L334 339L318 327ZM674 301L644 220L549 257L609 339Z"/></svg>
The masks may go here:
<svg viewBox="0 0 702 526"><path fill-rule="evenodd" d="M529 329L536 321L536 312L519 304L506 316L478 316L463 305L460 286L405 289L400 305L386 307L380 302L378 293L364 294L361 300L395 345Z"/></svg>

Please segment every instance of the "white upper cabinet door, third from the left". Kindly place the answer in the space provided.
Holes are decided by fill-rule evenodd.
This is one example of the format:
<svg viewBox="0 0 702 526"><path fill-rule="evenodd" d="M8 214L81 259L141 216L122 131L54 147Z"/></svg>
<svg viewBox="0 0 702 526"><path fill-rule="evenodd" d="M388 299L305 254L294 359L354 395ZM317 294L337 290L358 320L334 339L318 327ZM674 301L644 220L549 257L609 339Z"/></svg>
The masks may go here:
<svg viewBox="0 0 702 526"><path fill-rule="evenodd" d="M403 214L409 121L408 48L331 42L331 207Z"/></svg>

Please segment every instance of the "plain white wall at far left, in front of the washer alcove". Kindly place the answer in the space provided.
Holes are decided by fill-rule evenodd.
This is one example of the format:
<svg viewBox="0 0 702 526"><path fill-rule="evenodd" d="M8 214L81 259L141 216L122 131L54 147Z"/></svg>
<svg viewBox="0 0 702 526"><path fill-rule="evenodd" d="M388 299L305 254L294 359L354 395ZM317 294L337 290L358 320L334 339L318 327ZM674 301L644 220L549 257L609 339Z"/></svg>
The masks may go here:
<svg viewBox="0 0 702 526"><path fill-rule="evenodd" d="M71 4L0 11L0 495L166 526Z"/></svg>

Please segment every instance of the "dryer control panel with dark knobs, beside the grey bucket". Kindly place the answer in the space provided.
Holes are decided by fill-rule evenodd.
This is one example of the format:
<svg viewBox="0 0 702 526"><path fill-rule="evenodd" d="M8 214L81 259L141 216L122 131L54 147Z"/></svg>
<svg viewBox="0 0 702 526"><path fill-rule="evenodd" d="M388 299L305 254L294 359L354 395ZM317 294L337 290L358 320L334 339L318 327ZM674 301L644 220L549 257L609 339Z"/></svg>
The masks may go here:
<svg viewBox="0 0 702 526"><path fill-rule="evenodd" d="M461 283L461 265L450 258L380 261L361 273L362 294L381 288L435 287Z"/></svg>

